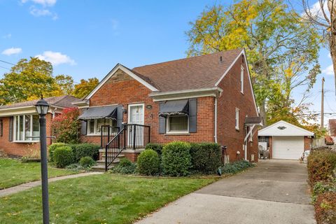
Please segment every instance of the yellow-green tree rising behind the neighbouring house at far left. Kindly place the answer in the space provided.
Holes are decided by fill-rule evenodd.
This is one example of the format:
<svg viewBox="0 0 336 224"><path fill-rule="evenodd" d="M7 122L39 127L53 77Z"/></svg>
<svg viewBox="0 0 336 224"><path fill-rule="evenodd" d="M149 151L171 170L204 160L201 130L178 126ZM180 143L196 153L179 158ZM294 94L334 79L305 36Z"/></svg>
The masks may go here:
<svg viewBox="0 0 336 224"><path fill-rule="evenodd" d="M52 64L36 57L20 59L0 80L0 104L59 96L59 86L52 77Z"/></svg>

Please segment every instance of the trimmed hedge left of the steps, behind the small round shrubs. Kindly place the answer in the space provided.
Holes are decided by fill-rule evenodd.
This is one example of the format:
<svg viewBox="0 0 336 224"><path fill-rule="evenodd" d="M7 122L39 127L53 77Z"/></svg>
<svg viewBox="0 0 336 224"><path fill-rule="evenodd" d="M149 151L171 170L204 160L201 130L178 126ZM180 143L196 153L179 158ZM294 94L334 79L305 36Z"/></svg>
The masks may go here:
<svg viewBox="0 0 336 224"><path fill-rule="evenodd" d="M97 160L99 156L99 148L100 146L90 143L83 144L72 144L70 145L73 151L73 155L75 156L76 162L80 160L80 158L89 156L90 158Z"/></svg>

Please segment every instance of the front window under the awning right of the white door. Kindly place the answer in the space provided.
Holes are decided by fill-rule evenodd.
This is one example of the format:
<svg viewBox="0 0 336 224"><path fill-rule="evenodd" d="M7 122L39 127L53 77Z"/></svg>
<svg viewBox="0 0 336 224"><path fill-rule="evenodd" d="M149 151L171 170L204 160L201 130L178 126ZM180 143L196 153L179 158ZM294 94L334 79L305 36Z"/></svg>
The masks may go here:
<svg viewBox="0 0 336 224"><path fill-rule="evenodd" d="M167 133L188 133L188 116L167 116Z"/></svg>

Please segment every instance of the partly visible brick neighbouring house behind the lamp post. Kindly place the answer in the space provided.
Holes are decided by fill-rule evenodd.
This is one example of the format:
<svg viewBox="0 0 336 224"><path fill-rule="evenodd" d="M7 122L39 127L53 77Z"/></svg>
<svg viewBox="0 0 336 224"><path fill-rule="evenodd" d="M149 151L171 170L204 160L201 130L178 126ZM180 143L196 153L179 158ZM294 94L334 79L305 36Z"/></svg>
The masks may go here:
<svg viewBox="0 0 336 224"><path fill-rule="evenodd" d="M62 109L73 107L76 97L64 95L62 97L48 97L45 101L50 104L46 115L47 136L51 136L50 123ZM8 155L36 155L39 145L39 122L35 104L38 100L31 100L6 106L0 106L0 150ZM48 145L51 139L47 139ZM39 154L38 154L39 155Z"/></svg>

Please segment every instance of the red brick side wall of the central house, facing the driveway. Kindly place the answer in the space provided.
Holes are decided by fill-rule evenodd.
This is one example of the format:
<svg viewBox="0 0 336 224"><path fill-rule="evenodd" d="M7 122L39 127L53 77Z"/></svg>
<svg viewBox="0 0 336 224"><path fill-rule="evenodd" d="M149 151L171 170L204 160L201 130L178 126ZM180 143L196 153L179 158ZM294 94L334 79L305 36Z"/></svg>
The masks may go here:
<svg viewBox="0 0 336 224"><path fill-rule="evenodd" d="M244 94L241 93L240 73L241 64L244 66ZM244 159L244 137L246 129L244 120L246 116L258 116L253 102L253 93L248 80L248 73L243 57L238 59L230 71L223 78L218 87L223 89L221 97L218 97L218 143L228 146L230 161ZM235 128L236 108L239 109L239 130ZM240 155L237 155L237 151ZM258 161L258 131L253 136L253 144L248 144L248 160L254 155Z"/></svg>

